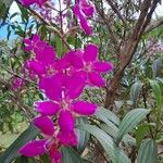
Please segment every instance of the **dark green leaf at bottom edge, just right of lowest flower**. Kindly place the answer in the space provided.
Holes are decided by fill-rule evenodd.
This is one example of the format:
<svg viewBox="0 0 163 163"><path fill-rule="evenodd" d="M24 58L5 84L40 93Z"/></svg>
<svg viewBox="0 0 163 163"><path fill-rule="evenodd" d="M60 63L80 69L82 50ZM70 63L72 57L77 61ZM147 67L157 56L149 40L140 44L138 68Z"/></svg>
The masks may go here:
<svg viewBox="0 0 163 163"><path fill-rule="evenodd" d="M62 148L62 163L84 163L80 155L72 148Z"/></svg>

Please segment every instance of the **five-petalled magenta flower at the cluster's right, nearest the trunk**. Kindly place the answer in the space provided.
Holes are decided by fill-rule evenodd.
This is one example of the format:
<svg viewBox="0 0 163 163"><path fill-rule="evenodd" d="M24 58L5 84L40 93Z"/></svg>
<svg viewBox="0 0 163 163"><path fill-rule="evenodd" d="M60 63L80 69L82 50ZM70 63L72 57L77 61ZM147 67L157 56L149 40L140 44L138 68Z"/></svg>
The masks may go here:
<svg viewBox="0 0 163 163"><path fill-rule="evenodd" d="M92 43L87 45L84 51L78 50L68 52L65 55L65 60L67 60L71 65L68 67L72 73L71 75L79 76L90 86L104 86L105 80L101 77L101 73L109 72L113 68L111 62L98 60L98 47ZM75 71L73 71L72 67Z"/></svg>

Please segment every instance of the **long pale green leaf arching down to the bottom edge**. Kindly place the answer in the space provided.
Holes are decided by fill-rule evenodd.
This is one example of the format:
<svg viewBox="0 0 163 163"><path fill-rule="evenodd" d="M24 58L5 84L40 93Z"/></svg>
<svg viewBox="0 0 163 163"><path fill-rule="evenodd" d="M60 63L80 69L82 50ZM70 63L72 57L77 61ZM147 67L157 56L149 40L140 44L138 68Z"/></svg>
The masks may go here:
<svg viewBox="0 0 163 163"><path fill-rule="evenodd" d="M113 163L130 162L127 155L124 153L124 151L115 146L113 138L99 127L93 125L84 125L79 126L79 128L87 130L99 140L99 142L104 148L106 154L109 155L109 158L112 160Z"/></svg>

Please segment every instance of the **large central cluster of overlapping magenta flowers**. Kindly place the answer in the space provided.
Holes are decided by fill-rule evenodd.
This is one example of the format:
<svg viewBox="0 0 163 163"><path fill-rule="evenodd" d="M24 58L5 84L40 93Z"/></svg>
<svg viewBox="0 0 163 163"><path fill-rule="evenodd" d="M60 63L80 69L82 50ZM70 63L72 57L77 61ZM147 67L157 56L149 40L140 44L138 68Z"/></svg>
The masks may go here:
<svg viewBox="0 0 163 163"><path fill-rule="evenodd" d="M98 47L93 43L84 50L70 50L62 59L38 35L24 43L25 51L34 53L25 67L38 78L38 87L47 99L35 102L39 115L33 121L43 138L28 142L20 153L36 156L47 152L52 163L59 163L60 147L77 145L75 118L92 115L97 110L95 103L82 101L79 96L86 86L103 87L101 73L111 71L113 65L98 60Z"/></svg>

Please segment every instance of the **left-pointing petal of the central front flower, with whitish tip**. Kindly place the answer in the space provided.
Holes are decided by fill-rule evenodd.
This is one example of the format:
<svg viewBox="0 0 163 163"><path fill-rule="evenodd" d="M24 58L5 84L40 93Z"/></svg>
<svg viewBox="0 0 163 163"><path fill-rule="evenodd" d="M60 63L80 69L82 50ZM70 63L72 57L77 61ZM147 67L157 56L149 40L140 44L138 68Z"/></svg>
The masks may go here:
<svg viewBox="0 0 163 163"><path fill-rule="evenodd" d="M59 104L51 101L35 102L36 111L42 115L54 115L59 111Z"/></svg>

